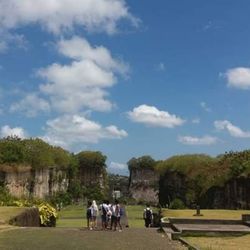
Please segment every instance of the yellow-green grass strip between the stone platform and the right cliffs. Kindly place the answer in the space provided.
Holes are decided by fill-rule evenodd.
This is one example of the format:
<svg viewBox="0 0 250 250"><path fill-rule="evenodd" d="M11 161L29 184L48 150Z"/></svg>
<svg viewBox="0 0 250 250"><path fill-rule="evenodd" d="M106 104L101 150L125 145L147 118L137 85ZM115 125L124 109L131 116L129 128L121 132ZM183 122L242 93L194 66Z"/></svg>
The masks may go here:
<svg viewBox="0 0 250 250"><path fill-rule="evenodd" d="M232 219L240 220L242 214L250 214L250 210L223 210L223 209L202 209L203 216L196 217L195 210L191 209L163 209L164 217L179 217L179 218L199 218L199 219Z"/></svg>

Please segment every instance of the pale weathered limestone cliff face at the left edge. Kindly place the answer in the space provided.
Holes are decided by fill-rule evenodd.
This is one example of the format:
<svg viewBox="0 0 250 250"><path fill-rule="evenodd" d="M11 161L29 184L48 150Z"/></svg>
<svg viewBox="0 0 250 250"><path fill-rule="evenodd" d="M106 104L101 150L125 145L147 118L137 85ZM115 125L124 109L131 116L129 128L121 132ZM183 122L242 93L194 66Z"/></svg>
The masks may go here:
<svg viewBox="0 0 250 250"><path fill-rule="evenodd" d="M53 168L38 170L30 167L1 168L0 183L18 198L45 198L58 191L66 191L68 188L66 171Z"/></svg>

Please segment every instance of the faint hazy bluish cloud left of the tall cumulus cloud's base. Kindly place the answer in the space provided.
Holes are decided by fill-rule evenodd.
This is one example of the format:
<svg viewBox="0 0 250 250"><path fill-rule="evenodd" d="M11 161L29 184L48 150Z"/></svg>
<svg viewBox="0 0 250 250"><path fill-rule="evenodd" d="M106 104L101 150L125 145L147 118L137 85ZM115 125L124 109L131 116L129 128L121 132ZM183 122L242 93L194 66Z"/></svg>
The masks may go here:
<svg viewBox="0 0 250 250"><path fill-rule="evenodd" d="M10 107L11 112L24 112L28 117L34 117L42 112L50 111L50 104L37 96L36 93L27 94L20 102L13 103Z"/></svg>

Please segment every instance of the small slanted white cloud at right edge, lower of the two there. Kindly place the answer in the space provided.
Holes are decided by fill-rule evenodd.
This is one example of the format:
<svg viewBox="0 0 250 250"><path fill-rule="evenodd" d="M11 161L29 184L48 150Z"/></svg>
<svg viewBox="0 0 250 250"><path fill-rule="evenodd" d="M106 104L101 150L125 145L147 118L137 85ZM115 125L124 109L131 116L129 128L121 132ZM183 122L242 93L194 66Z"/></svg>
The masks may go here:
<svg viewBox="0 0 250 250"><path fill-rule="evenodd" d="M230 121L215 121L214 126L218 130L227 130L233 137L250 138L250 131L243 131L241 128L233 125Z"/></svg>

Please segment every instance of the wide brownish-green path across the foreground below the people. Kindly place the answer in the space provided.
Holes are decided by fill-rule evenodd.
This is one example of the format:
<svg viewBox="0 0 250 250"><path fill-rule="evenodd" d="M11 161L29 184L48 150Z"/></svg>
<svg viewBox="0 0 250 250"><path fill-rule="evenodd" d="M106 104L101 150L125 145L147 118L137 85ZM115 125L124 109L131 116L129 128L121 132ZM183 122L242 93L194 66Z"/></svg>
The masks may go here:
<svg viewBox="0 0 250 250"><path fill-rule="evenodd" d="M23 228L0 233L3 250L174 250L186 249L156 229L128 228L122 232L79 228Z"/></svg>

